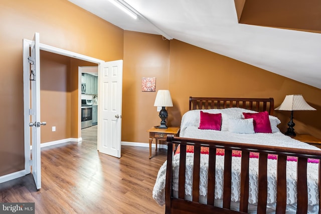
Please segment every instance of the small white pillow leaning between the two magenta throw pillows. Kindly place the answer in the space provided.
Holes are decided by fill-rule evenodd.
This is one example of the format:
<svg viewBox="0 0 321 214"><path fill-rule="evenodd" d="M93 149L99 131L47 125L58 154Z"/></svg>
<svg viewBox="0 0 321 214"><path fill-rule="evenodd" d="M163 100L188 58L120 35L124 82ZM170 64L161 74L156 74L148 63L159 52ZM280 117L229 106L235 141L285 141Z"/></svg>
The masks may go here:
<svg viewBox="0 0 321 214"><path fill-rule="evenodd" d="M229 120L229 132L241 134L254 134L253 118Z"/></svg>

